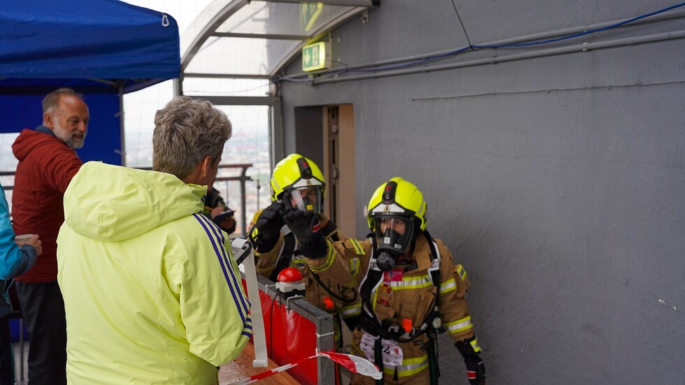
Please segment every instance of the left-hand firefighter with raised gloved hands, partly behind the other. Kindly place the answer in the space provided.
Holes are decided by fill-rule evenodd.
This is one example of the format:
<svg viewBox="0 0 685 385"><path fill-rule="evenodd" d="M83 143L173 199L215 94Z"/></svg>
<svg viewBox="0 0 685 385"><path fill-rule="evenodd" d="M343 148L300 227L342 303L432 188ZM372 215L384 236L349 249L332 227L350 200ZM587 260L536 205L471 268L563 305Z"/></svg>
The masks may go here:
<svg viewBox="0 0 685 385"><path fill-rule="evenodd" d="M294 267L306 284L305 300L319 309L335 314L336 344L342 347L340 319L350 330L359 324L361 300L355 288L348 288L310 269L301 256L302 245L291 232L284 216L309 212L320 220L321 233L331 242L345 240L338 226L322 214L326 183L319 167L299 154L290 154L276 164L271 177L271 205L254 221L250 240L257 256L257 273L276 280L284 268Z"/></svg>

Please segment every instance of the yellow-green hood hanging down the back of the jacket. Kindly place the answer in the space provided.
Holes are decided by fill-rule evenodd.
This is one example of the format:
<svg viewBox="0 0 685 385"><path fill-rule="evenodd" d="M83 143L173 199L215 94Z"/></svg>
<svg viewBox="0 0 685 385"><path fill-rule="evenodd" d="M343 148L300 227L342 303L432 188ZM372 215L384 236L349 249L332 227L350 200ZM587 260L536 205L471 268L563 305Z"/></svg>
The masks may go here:
<svg viewBox="0 0 685 385"><path fill-rule="evenodd" d="M202 212L206 194L168 173L88 162L64 193L64 221L84 237L118 242Z"/></svg>

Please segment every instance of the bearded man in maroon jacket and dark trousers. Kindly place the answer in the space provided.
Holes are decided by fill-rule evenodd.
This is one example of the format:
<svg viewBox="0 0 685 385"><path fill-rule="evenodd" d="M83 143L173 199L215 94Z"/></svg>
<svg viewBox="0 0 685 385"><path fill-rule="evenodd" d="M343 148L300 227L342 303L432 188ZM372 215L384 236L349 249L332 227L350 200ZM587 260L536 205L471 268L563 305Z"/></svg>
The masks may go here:
<svg viewBox="0 0 685 385"><path fill-rule="evenodd" d="M14 230L38 234L43 254L17 277L17 294L29 342L29 384L66 384L66 321L57 286L57 233L64 222L62 198L82 165L73 149L83 147L88 106L72 89L43 99L43 124L25 129L12 150L19 165L12 196Z"/></svg>

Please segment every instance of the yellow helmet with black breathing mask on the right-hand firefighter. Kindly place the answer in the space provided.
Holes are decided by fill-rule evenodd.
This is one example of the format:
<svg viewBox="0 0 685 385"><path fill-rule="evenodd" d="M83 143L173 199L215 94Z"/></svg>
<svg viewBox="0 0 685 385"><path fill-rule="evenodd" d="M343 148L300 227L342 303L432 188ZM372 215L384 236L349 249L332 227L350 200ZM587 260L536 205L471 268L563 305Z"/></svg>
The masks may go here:
<svg viewBox="0 0 685 385"><path fill-rule="evenodd" d="M401 177L381 184L371 196L368 208L368 228L375 233L379 247L403 253L416 230L426 230L424 194Z"/></svg>

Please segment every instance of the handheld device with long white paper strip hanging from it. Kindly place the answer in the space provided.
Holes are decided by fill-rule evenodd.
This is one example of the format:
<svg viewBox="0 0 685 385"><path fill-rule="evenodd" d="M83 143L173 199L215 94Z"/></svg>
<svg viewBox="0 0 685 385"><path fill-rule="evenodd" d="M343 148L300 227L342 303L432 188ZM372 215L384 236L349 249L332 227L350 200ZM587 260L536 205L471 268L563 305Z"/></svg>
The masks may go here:
<svg viewBox="0 0 685 385"><path fill-rule="evenodd" d="M243 238L236 238L231 242L233 258L237 261L243 259L243 273L247 282L247 298L250 299L250 315L252 316L252 341L254 342L254 368L266 368L268 357L266 355L266 333L264 332L264 317L261 314L261 300L259 299L259 287L257 286L257 269L254 268L254 252L252 244ZM250 253L244 257L245 253Z"/></svg>

